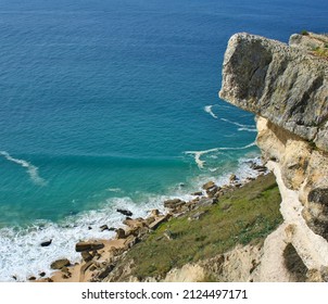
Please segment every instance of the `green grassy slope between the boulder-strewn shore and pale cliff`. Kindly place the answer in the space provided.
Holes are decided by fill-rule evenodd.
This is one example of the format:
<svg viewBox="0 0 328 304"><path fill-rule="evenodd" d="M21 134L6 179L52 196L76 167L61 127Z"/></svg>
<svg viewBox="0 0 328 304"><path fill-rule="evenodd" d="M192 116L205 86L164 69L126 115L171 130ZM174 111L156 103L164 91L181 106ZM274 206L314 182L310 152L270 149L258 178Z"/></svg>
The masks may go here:
<svg viewBox="0 0 328 304"><path fill-rule="evenodd" d="M135 276L163 277L174 267L213 257L238 243L263 241L282 220L279 204L274 175L262 176L226 194L216 205L162 224L135 245L126 258L134 259ZM188 220L200 212L205 212L200 219ZM167 230L172 240L164 237Z"/></svg>

